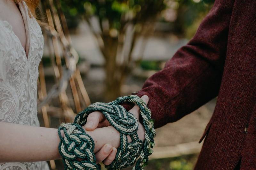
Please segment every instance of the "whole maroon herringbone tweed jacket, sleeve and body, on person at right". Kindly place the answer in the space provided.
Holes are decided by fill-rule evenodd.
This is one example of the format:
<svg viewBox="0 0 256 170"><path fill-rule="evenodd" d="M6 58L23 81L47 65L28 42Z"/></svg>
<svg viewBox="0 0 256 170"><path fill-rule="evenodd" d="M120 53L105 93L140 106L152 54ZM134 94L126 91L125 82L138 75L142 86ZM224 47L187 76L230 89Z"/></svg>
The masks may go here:
<svg viewBox="0 0 256 170"><path fill-rule="evenodd" d="M256 169L256 1L216 0L194 38L135 94L149 96L156 128L218 96L195 169Z"/></svg>

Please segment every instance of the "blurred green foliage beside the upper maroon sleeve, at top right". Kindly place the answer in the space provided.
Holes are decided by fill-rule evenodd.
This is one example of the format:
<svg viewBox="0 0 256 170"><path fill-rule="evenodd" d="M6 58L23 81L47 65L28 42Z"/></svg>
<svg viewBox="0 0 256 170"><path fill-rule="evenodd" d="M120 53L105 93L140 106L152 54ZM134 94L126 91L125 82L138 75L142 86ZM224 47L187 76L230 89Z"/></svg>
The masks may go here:
<svg viewBox="0 0 256 170"><path fill-rule="evenodd" d="M212 8L214 0L165 0L162 22L172 24L172 32L192 38L202 19Z"/></svg>

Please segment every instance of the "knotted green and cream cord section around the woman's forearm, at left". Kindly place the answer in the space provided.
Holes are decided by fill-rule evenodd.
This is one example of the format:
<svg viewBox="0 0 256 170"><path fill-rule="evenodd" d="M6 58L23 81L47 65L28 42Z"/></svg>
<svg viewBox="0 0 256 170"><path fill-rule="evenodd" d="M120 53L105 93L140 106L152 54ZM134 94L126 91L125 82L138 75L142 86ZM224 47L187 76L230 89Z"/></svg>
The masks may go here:
<svg viewBox="0 0 256 170"><path fill-rule="evenodd" d="M60 130L64 131L64 137L61 136ZM62 123L58 129L58 134L60 137L59 152L65 169L100 169L93 153L94 141L80 125Z"/></svg>

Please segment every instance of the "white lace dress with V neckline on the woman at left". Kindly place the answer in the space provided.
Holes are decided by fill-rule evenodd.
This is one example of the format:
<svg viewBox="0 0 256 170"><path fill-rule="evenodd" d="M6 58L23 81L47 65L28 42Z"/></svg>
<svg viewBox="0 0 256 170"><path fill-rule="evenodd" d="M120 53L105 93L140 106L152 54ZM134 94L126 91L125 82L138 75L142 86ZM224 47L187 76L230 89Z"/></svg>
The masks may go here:
<svg viewBox="0 0 256 170"><path fill-rule="evenodd" d="M21 1L19 8L26 28L26 51L12 26L0 20L0 122L39 126L37 78L44 40L36 19L28 15L26 3ZM49 167L46 162L0 163L0 170L39 169Z"/></svg>

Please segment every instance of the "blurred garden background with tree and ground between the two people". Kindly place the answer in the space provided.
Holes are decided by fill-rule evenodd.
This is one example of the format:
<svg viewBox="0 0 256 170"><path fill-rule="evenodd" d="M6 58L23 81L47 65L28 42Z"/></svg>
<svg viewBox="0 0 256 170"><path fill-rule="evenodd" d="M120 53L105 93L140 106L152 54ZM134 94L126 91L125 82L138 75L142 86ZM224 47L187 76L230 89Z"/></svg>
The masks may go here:
<svg viewBox="0 0 256 170"><path fill-rule="evenodd" d="M76 66L86 89L85 94L88 94L90 99L87 103L79 103L78 106L71 75L68 85L64 88L68 107L77 113L79 109L86 107L88 102L109 102L118 96L140 90L144 81L161 70L164 63L193 37L213 3L214 0L42 1L40 18L45 23L50 23L49 14L52 14L53 20L55 17L54 11L47 13L48 6L56 7L57 17L65 16L68 29L63 23L60 26L69 42L66 46L69 50L74 48L73 51L76 51ZM56 23L54 26L58 31ZM64 66L67 60L63 56L64 53L61 53L65 41L55 46L54 31L45 26L43 32L45 47L41 65L45 92L49 93L56 82L58 84L61 80L56 76L52 58L57 62L59 54L60 66ZM51 35L48 35L49 33ZM58 33L60 34L59 31ZM61 40L61 34L59 39ZM62 77L63 75L64 72ZM39 88L44 91L42 89ZM79 99L79 95L77 96ZM39 97L39 100L44 97ZM61 98L63 96L57 95L48 100L48 113L51 112L49 108L60 108L60 112L64 109ZM193 169L202 146L198 141L212 116L215 103L216 99L180 121L156 129L155 152L150 156L146 169ZM48 121L47 126L56 128L62 120L67 121L56 113L48 114L45 121L44 107L40 107L38 113L42 126ZM53 169L63 169L61 160L56 160L54 164L55 167L51 164Z"/></svg>

